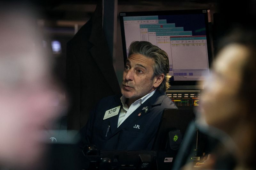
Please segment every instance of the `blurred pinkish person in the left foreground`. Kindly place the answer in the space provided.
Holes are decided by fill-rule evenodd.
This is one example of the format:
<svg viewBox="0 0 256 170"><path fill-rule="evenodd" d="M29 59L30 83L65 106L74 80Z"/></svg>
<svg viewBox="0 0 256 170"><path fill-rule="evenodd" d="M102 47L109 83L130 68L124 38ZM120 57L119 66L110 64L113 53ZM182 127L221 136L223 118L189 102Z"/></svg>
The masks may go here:
<svg viewBox="0 0 256 170"><path fill-rule="evenodd" d="M45 129L60 116L60 90L40 48L34 14L0 9L0 169L40 169L49 140Z"/></svg>

